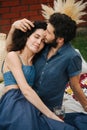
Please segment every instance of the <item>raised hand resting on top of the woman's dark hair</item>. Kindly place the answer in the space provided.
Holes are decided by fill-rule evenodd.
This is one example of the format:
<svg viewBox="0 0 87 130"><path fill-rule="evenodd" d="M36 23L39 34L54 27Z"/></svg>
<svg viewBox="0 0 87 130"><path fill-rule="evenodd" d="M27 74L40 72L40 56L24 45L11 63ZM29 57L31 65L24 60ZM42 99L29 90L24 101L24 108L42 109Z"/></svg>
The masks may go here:
<svg viewBox="0 0 87 130"><path fill-rule="evenodd" d="M19 29L23 32L26 32L27 29L30 30L31 27L34 27L33 22L31 22L30 20L28 20L26 18L17 20L12 24L13 29Z"/></svg>

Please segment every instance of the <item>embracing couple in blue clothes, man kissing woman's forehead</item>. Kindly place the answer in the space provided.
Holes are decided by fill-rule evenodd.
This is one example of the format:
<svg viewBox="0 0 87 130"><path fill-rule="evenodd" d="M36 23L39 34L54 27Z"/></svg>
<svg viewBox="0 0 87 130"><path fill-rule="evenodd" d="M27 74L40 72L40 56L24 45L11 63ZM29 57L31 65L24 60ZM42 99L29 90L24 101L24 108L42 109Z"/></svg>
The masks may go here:
<svg viewBox="0 0 87 130"><path fill-rule="evenodd" d="M79 85L82 61L70 44L75 35L76 22L60 13L52 14L48 24L27 19L13 23L2 66L5 94L0 99L0 130L77 129L53 112L62 105L68 81L87 111Z"/></svg>

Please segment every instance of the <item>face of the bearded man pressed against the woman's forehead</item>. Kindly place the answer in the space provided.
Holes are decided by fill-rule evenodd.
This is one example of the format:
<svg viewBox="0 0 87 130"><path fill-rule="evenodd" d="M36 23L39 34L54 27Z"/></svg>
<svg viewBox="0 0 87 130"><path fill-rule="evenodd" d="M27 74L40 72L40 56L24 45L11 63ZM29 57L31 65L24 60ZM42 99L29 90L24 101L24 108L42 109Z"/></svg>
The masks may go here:
<svg viewBox="0 0 87 130"><path fill-rule="evenodd" d="M55 40L54 27L48 23L47 29L45 31L45 43L51 44Z"/></svg>

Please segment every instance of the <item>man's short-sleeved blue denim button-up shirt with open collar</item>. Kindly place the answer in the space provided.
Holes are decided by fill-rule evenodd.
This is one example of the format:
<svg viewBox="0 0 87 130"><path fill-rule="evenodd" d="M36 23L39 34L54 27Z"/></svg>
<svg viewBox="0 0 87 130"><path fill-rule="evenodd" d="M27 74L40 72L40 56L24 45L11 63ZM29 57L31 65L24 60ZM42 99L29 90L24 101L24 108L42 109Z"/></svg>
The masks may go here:
<svg viewBox="0 0 87 130"><path fill-rule="evenodd" d="M47 59L46 47L35 62L34 89L52 110L62 104L63 94L70 77L81 72L82 60L71 44L64 44L55 55Z"/></svg>

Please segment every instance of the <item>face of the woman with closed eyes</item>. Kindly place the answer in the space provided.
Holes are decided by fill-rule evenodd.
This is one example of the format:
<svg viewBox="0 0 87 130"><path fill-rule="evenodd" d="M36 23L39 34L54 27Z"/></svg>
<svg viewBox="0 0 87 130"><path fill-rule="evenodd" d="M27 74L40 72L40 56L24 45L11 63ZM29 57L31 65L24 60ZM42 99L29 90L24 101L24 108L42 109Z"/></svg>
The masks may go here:
<svg viewBox="0 0 87 130"><path fill-rule="evenodd" d="M26 46L33 53L38 53L44 47L44 36L45 30L37 29L34 33L32 33L26 43Z"/></svg>

